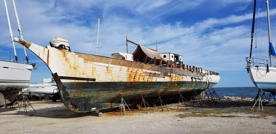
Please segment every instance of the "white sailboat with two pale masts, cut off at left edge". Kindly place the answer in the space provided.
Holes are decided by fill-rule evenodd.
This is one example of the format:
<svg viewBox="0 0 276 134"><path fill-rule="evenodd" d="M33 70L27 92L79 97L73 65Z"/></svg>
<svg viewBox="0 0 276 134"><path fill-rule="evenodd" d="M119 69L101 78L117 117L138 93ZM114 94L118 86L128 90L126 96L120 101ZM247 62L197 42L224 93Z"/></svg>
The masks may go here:
<svg viewBox="0 0 276 134"><path fill-rule="evenodd" d="M14 13L17 21L20 38L23 39L14 0L12 0L12 3L14 7ZM37 65L29 64L25 47L23 47L23 49L25 52L25 56L26 56L25 60L27 61L27 64L25 64L24 62L22 63L18 62L18 57L16 55L14 41L13 41L12 29L10 26L10 19L9 19L9 13L7 10L6 0L4 0L4 6L6 9L6 15L7 15L7 20L9 24L10 37L14 48L15 59L14 61L12 61L11 59L0 60L0 74L1 74L0 75L0 108L4 105L7 106L9 104L12 104L15 101L15 97L18 94L18 92L23 88L29 87L31 70L37 68Z"/></svg>

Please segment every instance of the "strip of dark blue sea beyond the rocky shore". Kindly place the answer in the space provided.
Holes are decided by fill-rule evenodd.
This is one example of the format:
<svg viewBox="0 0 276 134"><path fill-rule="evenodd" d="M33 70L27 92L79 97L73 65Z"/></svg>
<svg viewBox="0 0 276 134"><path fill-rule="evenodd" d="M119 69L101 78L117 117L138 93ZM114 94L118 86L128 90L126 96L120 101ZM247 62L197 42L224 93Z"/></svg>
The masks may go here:
<svg viewBox="0 0 276 134"><path fill-rule="evenodd" d="M219 97L241 97L254 99L259 91L257 87L215 87L214 90L217 92ZM264 91L262 91L263 93ZM269 92L265 93L267 96Z"/></svg>

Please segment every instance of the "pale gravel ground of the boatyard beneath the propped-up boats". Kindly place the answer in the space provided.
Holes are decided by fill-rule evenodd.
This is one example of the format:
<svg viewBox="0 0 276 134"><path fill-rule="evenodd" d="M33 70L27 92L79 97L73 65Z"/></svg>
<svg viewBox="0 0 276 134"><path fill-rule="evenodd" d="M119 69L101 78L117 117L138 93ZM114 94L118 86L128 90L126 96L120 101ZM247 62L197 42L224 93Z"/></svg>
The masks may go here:
<svg viewBox="0 0 276 134"><path fill-rule="evenodd" d="M131 109L134 115L127 111L122 117L119 110L95 117L71 112L62 102L32 103L36 113L17 115L18 107L0 108L0 133L276 133L274 107L251 111L249 101L223 101L204 108L196 104L189 110L169 104L170 111L156 107L146 114ZM33 112L30 106L27 109Z"/></svg>

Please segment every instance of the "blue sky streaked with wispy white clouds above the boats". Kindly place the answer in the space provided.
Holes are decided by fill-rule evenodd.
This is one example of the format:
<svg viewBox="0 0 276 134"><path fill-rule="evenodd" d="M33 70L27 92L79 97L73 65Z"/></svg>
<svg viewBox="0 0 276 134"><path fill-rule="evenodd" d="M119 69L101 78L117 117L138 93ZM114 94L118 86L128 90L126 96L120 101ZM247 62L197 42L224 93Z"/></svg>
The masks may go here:
<svg viewBox="0 0 276 134"><path fill-rule="evenodd" d="M250 52L253 0L159 0L159 1L30 1L16 0L25 40L46 46L54 37L69 41L74 52L95 54L91 43L98 17L101 18L99 55L126 52L126 35L131 41L155 48L159 52L183 55L185 65L195 65L221 74L216 87L254 86L247 73L245 57ZM14 36L19 36L12 3L7 1ZM10 41L4 3L0 2L0 45ZM275 4L271 4L272 42L275 41ZM268 58L265 1L257 4L258 58ZM257 33L256 33L257 34ZM274 43L276 45L276 43ZM18 57L23 56L15 43ZM262 49L259 48L262 47ZM133 52L135 45L130 45ZM12 44L0 49L13 52ZM262 51L260 51L262 50ZM261 53L260 53L261 52ZM31 81L51 78L47 66L27 50L30 63L37 63ZM261 54L261 55L260 55ZM0 51L1 56L10 53ZM12 55L13 56L13 55Z"/></svg>

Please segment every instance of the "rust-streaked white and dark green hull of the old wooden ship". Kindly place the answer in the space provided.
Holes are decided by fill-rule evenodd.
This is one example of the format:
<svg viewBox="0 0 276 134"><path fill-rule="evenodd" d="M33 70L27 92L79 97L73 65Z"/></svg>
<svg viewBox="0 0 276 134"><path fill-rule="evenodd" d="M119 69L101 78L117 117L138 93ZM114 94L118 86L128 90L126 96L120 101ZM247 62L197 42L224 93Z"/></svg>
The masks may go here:
<svg viewBox="0 0 276 134"><path fill-rule="evenodd" d="M65 106L75 112L90 112L120 105L120 96L128 104L144 98L156 101L194 97L219 82L220 76L205 69L187 70L144 64L97 55L41 47L16 39L43 60L51 70ZM119 104L118 104L119 103Z"/></svg>

